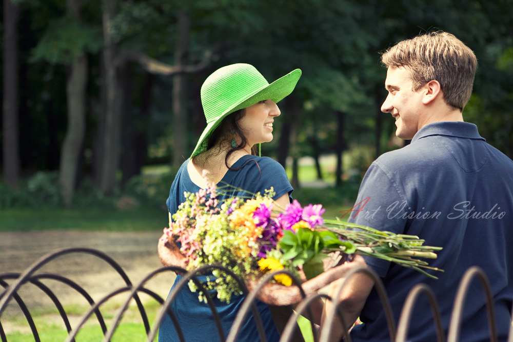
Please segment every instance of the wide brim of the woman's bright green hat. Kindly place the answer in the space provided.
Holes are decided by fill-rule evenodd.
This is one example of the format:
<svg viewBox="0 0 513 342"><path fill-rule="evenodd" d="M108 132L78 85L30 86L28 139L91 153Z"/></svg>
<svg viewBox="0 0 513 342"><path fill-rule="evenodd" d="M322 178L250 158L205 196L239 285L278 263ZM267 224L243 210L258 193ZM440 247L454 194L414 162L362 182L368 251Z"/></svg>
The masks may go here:
<svg viewBox="0 0 513 342"><path fill-rule="evenodd" d="M192 159L196 155L201 154L207 150L208 137L221 124L226 116L240 109L252 106L259 101L271 99L274 101L274 103L280 102L294 90L295 85L298 83L300 77L301 70L295 69L285 76L278 78L270 85L257 89L252 94L249 94L248 96L241 98L238 102L234 103L230 108L224 111L219 116L219 118L209 123L203 130L203 133L198 140L198 144L196 144L196 147L194 148L190 158Z"/></svg>

